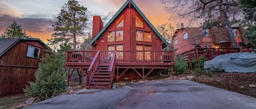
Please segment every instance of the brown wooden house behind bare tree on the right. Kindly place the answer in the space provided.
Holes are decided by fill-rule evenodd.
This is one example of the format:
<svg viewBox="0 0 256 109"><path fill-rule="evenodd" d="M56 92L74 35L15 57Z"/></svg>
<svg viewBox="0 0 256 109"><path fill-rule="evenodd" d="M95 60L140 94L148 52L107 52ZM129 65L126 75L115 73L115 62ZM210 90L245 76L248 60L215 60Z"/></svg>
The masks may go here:
<svg viewBox="0 0 256 109"><path fill-rule="evenodd" d="M246 42L242 37L241 28L233 28L235 43ZM201 48L233 48L227 28L213 27L176 29L172 38L175 54L179 55L196 47Z"/></svg>

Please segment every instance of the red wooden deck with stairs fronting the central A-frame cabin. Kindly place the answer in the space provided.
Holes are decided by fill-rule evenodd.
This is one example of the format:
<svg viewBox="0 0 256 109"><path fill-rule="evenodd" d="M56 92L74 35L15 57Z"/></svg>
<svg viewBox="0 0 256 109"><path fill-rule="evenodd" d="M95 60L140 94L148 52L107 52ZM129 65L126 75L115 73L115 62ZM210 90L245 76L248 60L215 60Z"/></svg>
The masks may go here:
<svg viewBox="0 0 256 109"><path fill-rule="evenodd" d="M74 73L87 77L88 88L112 87L113 81L145 79L152 72L164 68L173 68L172 51L68 51L66 68L68 78ZM135 76L126 76L134 72Z"/></svg>

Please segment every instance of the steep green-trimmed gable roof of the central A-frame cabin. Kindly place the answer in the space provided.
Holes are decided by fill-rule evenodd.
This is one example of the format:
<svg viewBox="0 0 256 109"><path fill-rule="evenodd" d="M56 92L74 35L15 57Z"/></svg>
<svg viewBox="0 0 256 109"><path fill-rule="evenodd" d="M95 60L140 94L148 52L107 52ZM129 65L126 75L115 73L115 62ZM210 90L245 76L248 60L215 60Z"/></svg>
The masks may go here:
<svg viewBox="0 0 256 109"><path fill-rule="evenodd" d="M100 35L102 35L104 33L104 31L110 26L110 24L112 24L112 22L118 17L118 15L121 14L121 12L126 8L126 6L128 4L133 5L133 7L135 8L136 11L139 12L139 14L142 16L142 18L144 18L144 20L147 22L148 25L150 25L151 29L154 31L154 33L157 34L157 36L166 44L168 45L168 43L165 41L165 39L163 38L162 35L159 34L159 32L157 31L156 28L154 28L154 26L150 23L150 21L148 21L148 19L146 18L146 16L141 12L141 10L136 6L136 4L132 1L132 0L127 0L126 3L123 4L123 6L116 12L116 14L111 18L111 20L105 25L105 27L99 31L99 33L96 35L96 37L94 37L94 39L90 42L90 44L93 44L99 37Z"/></svg>

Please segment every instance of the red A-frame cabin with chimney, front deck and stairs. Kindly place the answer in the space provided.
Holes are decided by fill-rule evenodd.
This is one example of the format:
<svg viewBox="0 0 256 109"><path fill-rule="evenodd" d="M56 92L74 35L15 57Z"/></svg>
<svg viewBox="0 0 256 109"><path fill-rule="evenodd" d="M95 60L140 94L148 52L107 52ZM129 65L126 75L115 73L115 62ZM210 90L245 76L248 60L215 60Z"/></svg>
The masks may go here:
<svg viewBox="0 0 256 109"><path fill-rule="evenodd" d="M69 75L87 76L87 88L110 88L113 81L145 79L174 67L174 53L162 51L168 43L132 0L128 0L103 28L93 17L92 50L68 51Z"/></svg>

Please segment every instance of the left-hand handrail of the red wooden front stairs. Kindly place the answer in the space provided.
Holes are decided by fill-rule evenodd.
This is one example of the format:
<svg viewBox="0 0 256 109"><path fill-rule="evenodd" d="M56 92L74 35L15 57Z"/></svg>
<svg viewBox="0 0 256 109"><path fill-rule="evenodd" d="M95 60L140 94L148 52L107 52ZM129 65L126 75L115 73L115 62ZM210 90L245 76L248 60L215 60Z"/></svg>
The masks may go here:
<svg viewBox="0 0 256 109"><path fill-rule="evenodd" d="M99 58L100 58L99 53L100 53L100 51L98 50L97 54L94 56L94 58L92 60L90 67L88 68L89 79L87 78L87 87L91 84L92 77L93 77L94 73L96 72L96 68L99 64Z"/></svg>

